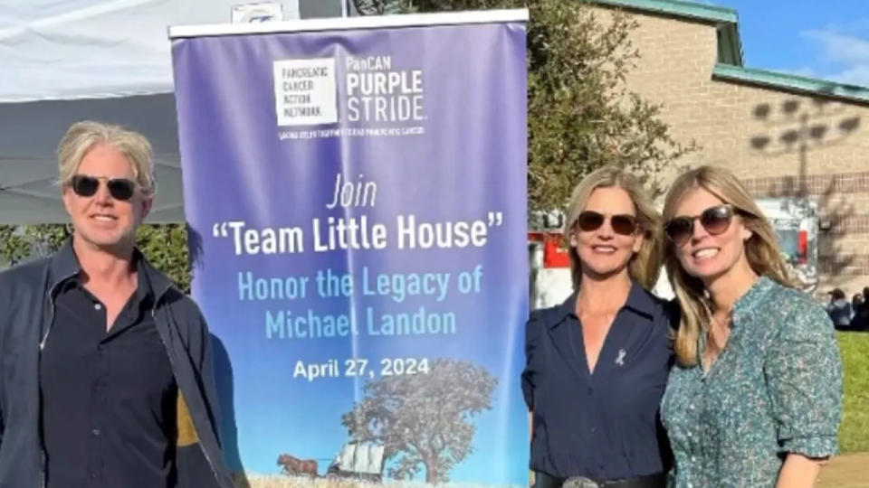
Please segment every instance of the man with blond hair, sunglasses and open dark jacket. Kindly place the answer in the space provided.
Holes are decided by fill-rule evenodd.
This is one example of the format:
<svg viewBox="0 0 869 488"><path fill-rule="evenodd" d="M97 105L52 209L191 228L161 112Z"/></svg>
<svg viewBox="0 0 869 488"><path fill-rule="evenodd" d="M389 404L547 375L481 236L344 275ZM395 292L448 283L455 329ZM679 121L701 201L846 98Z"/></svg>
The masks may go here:
<svg viewBox="0 0 869 488"><path fill-rule="evenodd" d="M72 239L0 274L0 488L229 488L205 321L135 246L148 140L79 122L57 155Z"/></svg>

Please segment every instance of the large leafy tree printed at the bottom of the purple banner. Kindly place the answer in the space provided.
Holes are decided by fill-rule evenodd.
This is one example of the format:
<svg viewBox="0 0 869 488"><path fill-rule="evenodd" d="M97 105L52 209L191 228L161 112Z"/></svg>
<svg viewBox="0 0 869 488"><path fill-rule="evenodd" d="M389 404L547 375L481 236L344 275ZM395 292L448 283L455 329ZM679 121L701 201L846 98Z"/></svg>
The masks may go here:
<svg viewBox="0 0 869 488"><path fill-rule="evenodd" d="M473 451L473 417L492 408L497 383L481 366L439 359L429 374L368 380L341 424L353 440L384 446L390 477L411 479L425 467L426 483L444 483Z"/></svg>

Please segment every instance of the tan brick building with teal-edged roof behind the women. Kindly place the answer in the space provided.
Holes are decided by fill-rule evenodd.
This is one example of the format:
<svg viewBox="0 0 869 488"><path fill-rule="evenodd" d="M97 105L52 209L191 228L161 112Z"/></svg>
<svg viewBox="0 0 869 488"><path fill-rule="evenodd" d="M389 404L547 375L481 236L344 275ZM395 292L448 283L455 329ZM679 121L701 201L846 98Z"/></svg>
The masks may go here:
<svg viewBox="0 0 869 488"><path fill-rule="evenodd" d="M726 1L726 0L722 0ZM680 164L730 168L758 198L817 202L822 294L869 286L869 89L743 66L737 12L674 0L595 0L635 16L628 88L663 105Z"/></svg>

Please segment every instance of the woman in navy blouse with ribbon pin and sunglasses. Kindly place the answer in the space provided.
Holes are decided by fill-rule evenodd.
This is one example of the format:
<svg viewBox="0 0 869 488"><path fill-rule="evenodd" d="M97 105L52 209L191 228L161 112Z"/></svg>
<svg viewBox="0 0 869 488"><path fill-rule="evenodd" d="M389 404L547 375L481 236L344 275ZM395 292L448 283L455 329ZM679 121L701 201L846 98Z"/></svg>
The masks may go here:
<svg viewBox="0 0 869 488"><path fill-rule="evenodd" d="M632 174L606 167L568 206L574 294L531 314L522 390L537 488L664 486L670 457L658 405L672 363L667 307L648 290L660 217ZM593 484L597 483L597 484Z"/></svg>

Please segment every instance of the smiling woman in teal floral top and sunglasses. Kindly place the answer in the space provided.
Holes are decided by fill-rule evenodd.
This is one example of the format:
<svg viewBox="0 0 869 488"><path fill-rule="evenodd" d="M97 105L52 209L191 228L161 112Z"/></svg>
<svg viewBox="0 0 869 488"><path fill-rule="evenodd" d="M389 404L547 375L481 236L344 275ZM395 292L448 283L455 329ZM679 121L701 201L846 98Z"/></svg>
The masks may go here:
<svg viewBox="0 0 869 488"><path fill-rule="evenodd" d="M842 361L775 231L729 171L680 175L664 262L682 319L662 402L677 488L807 488L838 449Z"/></svg>

